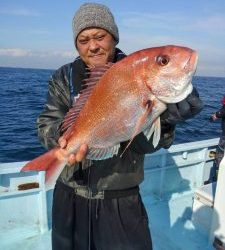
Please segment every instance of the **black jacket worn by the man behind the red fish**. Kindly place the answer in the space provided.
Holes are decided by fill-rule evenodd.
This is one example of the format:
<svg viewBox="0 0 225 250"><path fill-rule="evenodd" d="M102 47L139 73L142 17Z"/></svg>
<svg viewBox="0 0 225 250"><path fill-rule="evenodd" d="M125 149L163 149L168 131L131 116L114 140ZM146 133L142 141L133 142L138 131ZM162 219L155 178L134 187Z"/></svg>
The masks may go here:
<svg viewBox="0 0 225 250"><path fill-rule="evenodd" d="M124 57L125 54L116 49L114 61ZM50 78L47 103L37 120L38 136L45 148L51 149L57 145L63 118L72 105L73 96L81 90L85 73L86 66L78 57L73 63L62 66ZM119 190L139 185L144 177L144 155L161 147L168 148L174 139L174 126L162 127L157 148L153 147L151 139L147 141L141 133L136 136L123 157L120 157L120 152L126 143L121 144L118 156L113 158L101 161L84 160L74 167L66 166L59 181L72 187L89 186L94 190Z"/></svg>

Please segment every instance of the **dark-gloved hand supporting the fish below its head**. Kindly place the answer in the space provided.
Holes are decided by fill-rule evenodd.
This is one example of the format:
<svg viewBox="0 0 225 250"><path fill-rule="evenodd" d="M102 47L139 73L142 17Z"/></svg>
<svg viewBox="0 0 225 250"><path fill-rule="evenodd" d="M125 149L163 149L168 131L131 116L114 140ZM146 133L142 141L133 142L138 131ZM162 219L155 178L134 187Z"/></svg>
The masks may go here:
<svg viewBox="0 0 225 250"><path fill-rule="evenodd" d="M199 98L197 90L194 88L192 93L181 102L168 104L167 110L161 115L161 122L177 124L194 117L203 108L203 103Z"/></svg>

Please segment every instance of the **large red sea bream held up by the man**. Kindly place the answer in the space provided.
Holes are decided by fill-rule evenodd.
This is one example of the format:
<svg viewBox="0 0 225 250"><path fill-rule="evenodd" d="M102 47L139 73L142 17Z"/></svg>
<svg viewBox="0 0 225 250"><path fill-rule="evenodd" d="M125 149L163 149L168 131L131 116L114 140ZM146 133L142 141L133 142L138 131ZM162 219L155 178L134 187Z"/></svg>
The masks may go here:
<svg viewBox="0 0 225 250"><path fill-rule="evenodd" d="M62 125L68 155L88 145L87 159L102 160L118 153L120 143L139 134L157 146L160 114L192 91L197 53L181 46L162 46L134 52L123 60L90 69L80 97ZM129 146L129 145L128 145ZM44 170L52 185L68 156L58 159L56 147L26 164L22 171Z"/></svg>

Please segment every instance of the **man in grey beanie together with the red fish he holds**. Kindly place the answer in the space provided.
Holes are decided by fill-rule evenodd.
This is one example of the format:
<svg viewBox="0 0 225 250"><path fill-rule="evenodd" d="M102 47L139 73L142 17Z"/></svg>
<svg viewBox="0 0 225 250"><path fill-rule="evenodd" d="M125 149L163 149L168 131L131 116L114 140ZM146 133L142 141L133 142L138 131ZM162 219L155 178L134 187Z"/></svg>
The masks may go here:
<svg viewBox="0 0 225 250"><path fill-rule="evenodd" d="M126 57L116 47L111 11L97 3L77 10L73 35L79 56L50 78L37 121L40 141L50 150L37 162L54 167L38 169L35 160L24 167L46 170L47 181L59 175L52 249L152 249L139 194L144 156L169 148L176 124L202 109L191 85L196 53L165 46ZM174 71L176 65L184 73Z"/></svg>

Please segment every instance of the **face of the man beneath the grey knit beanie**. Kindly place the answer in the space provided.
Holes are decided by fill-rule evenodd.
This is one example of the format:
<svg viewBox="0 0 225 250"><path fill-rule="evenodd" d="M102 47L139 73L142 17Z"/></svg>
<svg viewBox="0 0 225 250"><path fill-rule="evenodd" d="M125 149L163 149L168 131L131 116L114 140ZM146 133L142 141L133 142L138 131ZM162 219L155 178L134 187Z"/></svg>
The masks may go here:
<svg viewBox="0 0 225 250"><path fill-rule="evenodd" d="M76 45L81 59L92 67L112 62L116 43L106 30L89 28L80 32Z"/></svg>

